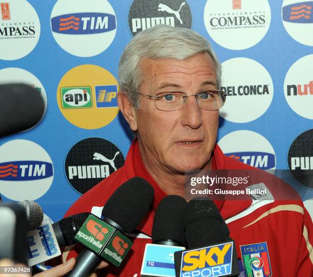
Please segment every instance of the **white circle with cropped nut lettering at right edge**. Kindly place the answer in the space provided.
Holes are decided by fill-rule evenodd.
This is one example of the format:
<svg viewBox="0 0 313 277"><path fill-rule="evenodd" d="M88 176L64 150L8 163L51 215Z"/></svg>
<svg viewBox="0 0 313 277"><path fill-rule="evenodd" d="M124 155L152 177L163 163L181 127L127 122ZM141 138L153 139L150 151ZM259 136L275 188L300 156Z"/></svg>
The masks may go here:
<svg viewBox="0 0 313 277"><path fill-rule="evenodd" d="M313 119L313 54L298 59L284 80L284 95L288 105L298 115Z"/></svg>

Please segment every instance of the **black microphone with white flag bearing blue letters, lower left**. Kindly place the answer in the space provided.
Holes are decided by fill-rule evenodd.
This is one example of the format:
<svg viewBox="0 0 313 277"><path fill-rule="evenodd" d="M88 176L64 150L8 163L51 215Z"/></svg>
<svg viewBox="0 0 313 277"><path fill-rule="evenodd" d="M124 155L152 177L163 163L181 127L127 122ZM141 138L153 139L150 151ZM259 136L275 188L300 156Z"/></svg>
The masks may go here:
<svg viewBox="0 0 313 277"><path fill-rule="evenodd" d="M28 264L46 262L61 254L60 247L75 244L74 236L89 215L90 212L82 212L53 224L49 218L44 218L36 230L27 234Z"/></svg>

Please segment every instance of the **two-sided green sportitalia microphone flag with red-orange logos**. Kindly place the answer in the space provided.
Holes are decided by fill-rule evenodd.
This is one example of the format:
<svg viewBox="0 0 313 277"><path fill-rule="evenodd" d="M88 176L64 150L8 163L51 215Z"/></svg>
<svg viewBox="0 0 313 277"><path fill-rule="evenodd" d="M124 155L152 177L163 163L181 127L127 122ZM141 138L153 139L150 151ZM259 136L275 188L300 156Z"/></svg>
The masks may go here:
<svg viewBox="0 0 313 277"><path fill-rule="evenodd" d="M117 228L90 215L75 236L75 240L105 260L119 266L132 242Z"/></svg>

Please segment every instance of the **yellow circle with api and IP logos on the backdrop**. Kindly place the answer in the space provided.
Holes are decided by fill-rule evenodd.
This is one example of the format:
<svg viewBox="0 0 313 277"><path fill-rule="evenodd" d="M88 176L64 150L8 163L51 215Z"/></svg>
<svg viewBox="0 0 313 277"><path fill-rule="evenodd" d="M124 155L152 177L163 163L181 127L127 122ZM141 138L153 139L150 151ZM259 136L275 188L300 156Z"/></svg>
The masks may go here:
<svg viewBox="0 0 313 277"><path fill-rule="evenodd" d="M119 113L117 91L118 81L109 71L95 65L82 65L62 77L57 102L62 115L73 125L99 129Z"/></svg>

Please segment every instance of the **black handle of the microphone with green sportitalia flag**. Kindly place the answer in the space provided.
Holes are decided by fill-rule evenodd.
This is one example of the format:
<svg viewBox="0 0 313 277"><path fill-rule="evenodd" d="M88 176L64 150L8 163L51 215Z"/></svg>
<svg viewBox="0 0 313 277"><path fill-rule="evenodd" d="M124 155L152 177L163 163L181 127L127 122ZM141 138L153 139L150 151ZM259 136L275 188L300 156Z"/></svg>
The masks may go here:
<svg viewBox="0 0 313 277"><path fill-rule="evenodd" d="M85 248L77 256L74 268L64 277L88 277L95 272L101 261L94 252Z"/></svg>

